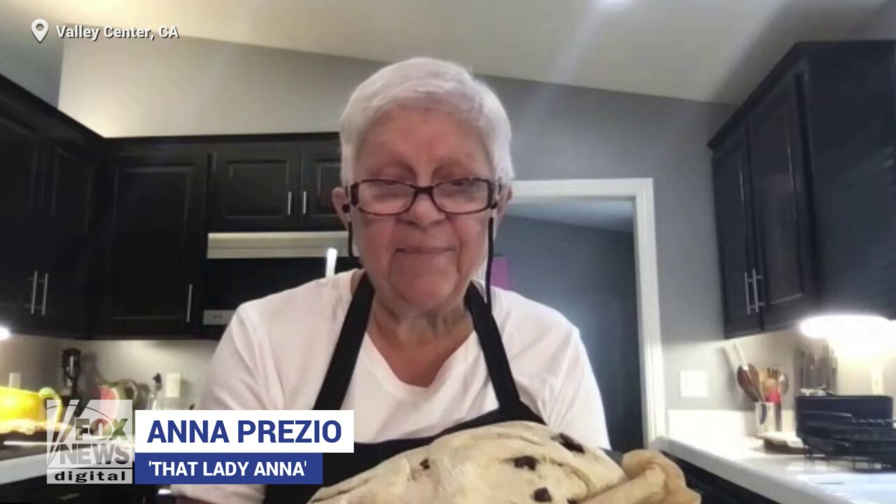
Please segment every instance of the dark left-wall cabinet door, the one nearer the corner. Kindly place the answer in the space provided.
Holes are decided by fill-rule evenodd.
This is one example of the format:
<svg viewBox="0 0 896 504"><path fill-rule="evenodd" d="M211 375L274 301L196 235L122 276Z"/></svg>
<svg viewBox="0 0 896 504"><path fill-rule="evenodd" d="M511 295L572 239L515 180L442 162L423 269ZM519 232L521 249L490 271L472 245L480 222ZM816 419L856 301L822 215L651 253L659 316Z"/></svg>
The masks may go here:
<svg viewBox="0 0 896 504"><path fill-rule="evenodd" d="M42 205L39 278L39 332L86 337L97 160L66 148L49 148L45 157L47 198Z"/></svg>

